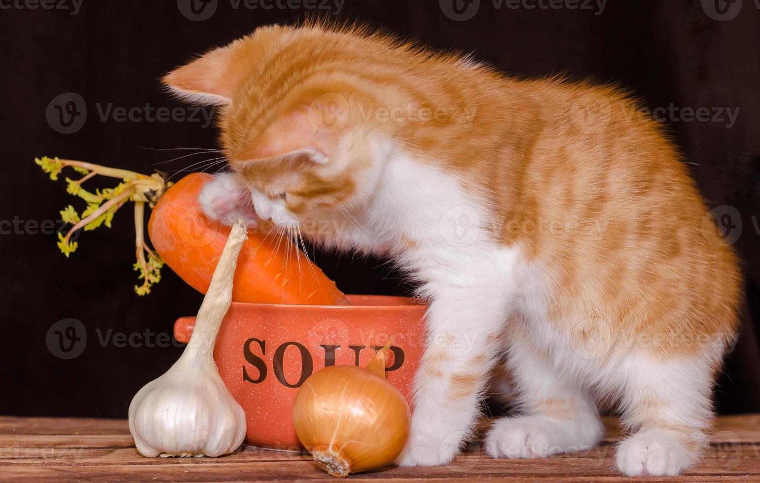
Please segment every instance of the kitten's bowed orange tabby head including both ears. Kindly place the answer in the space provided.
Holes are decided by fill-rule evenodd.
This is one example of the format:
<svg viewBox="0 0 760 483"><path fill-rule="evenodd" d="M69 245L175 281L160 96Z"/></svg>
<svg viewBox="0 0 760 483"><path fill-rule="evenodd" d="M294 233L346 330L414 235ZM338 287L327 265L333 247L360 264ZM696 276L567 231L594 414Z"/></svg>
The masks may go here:
<svg viewBox="0 0 760 483"><path fill-rule="evenodd" d="M375 191L392 126L361 115L374 102L350 74L361 49L366 43L350 33L261 27L163 81L186 99L220 106L224 154L257 209L294 223L360 207Z"/></svg>

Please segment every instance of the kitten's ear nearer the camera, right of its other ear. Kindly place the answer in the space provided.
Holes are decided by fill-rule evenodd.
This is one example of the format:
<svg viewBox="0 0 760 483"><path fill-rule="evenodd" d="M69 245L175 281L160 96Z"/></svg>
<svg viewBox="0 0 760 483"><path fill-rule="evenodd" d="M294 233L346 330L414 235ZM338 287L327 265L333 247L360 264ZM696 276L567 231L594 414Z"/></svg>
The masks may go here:
<svg viewBox="0 0 760 483"><path fill-rule="evenodd" d="M255 140L243 148L242 160L308 156L312 163L327 163L347 128L350 109L346 96L337 93L301 97L292 108L276 115Z"/></svg>

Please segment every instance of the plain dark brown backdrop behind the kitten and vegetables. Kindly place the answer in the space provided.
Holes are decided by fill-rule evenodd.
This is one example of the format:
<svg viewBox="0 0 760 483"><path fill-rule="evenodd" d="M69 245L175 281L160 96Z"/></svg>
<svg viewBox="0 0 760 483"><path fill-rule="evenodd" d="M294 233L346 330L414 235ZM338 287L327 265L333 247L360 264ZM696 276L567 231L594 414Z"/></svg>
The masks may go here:
<svg viewBox="0 0 760 483"><path fill-rule="evenodd" d="M71 200L63 182L50 182L32 163L34 156L65 156L139 172L176 172L192 164L191 159L205 158L156 165L182 152L147 148L216 146L213 125L103 121L98 106L180 106L157 80L170 68L258 25L292 23L314 12L235 9L234 2L218 0L211 18L191 21L173 0L84 0L76 15L71 9L32 9L23 0L12 1L16 3L3 0L2 6L11 8L0 10L5 165L0 220L17 217L36 223L55 220ZM71 0L55 3L62 1L71 5ZM723 412L760 411L760 236L751 218L760 217L760 169L756 157L730 162L741 153L760 151L760 10L755 2L744 0L735 17L722 21L713 18L715 0L705 5L698 0L610 0L600 14L583 8L497 9L492 0L480 0L479 6L469 6L477 12L467 21L446 16L451 2L346 0L337 17L366 21L430 46L474 52L476 58L511 74L566 72L618 81L652 108L673 103L692 109L740 109L731 128L726 122L676 118L667 123L711 207L730 204L742 215L736 247L746 260L749 303L739 344L720 377L717 401ZM717 2L733 9L738 5ZM336 4L328 5L332 9L326 13L336 13ZM87 117L79 131L60 134L51 127L46 108L68 92L82 96ZM667 226L673 214L657 216ZM128 210L119 215L112 229L81 234L80 249L68 260L55 248L55 235L33 234L30 225L0 236L5 301L0 312L0 414L125 417L131 396L179 355L181 349L147 346L145 339L125 347L100 343L99 333L109 329L128 335L146 329L169 334L176 317L195 314L201 301L201 295L170 270L147 298L132 292L134 232ZM731 221L736 225L739 220ZM323 254L318 263L346 292L409 289L378 260ZM70 360L56 357L46 343L52 324L67 317L81 320L87 333L83 352Z"/></svg>

